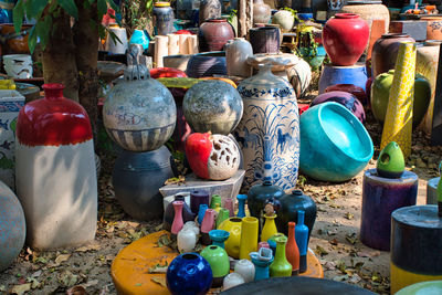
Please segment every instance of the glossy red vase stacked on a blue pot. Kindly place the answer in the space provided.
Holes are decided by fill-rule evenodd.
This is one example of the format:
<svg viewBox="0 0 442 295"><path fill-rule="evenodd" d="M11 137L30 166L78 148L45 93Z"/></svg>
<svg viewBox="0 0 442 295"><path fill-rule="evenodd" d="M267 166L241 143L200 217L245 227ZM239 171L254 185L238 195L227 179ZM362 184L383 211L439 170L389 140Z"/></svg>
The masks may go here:
<svg viewBox="0 0 442 295"><path fill-rule="evenodd" d="M319 94L334 84L354 84L365 89L365 64L356 64L369 38L369 27L354 13L337 13L323 29L323 44L332 65L326 65L319 78Z"/></svg>

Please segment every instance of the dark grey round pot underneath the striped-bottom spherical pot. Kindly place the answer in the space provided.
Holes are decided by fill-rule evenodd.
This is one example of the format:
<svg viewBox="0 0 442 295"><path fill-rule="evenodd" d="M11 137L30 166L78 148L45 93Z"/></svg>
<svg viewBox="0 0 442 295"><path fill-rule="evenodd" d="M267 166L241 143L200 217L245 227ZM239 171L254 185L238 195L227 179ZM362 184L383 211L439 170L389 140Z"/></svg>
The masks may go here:
<svg viewBox="0 0 442 295"><path fill-rule="evenodd" d="M123 210L137 220L162 218L159 188L173 177L170 151L165 147L152 151L123 150L115 161L113 185Z"/></svg>

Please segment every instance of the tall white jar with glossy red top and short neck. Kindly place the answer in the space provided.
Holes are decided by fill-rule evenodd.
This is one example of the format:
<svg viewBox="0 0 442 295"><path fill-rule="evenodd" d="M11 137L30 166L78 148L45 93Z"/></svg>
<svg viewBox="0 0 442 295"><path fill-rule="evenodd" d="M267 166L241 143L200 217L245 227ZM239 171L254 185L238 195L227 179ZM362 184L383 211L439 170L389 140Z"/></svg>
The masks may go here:
<svg viewBox="0 0 442 295"><path fill-rule="evenodd" d="M94 240L97 179L86 110L63 97L62 84L43 88L19 114L15 186L28 244L48 250Z"/></svg>

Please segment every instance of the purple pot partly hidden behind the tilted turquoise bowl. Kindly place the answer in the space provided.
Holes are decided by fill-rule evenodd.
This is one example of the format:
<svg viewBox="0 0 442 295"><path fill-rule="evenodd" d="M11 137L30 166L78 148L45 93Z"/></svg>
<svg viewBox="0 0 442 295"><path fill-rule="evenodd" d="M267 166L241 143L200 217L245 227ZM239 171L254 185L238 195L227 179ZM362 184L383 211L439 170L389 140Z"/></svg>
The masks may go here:
<svg viewBox="0 0 442 295"><path fill-rule="evenodd" d="M313 99L311 107L327 102L336 102L341 104L348 108L362 124L366 122L366 112L364 110L364 106L351 93L334 91L319 94L315 99Z"/></svg>

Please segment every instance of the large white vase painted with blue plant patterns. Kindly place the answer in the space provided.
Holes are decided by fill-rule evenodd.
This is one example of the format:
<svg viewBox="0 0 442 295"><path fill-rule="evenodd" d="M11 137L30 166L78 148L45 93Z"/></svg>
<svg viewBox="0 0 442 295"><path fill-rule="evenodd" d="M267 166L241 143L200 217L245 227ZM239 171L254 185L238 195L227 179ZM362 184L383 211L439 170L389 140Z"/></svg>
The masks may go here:
<svg viewBox="0 0 442 295"><path fill-rule="evenodd" d="M244 113L234 130L244 155L243 187L271 180L284 190L296 186L299 165L299 113L292 85L260 65L240 83Z"/></svg>

